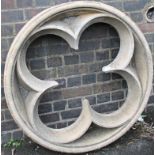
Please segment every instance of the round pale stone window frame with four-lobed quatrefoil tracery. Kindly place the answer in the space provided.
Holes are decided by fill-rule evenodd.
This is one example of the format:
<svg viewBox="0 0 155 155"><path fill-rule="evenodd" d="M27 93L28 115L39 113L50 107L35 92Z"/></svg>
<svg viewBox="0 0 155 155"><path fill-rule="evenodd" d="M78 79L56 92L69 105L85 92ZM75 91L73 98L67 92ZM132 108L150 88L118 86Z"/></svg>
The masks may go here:
<svg viewBox="0 0 155 155"><path fill-rule="evenodd" d="M39 36L54 34L76 50L83 31L98 22L112 25L119 34L119 53L102 71L115 72L125 78L127 99L119 110L110 114L97 113L89 101L83 99L82 112L72 125L62 129L48 128L40 121L37 106L43 93L59 83L40 80L30 73L25 62L27 48ZM87 152L114 142L136 122L149 98L152 66L145 37L127 15L99 2L69 2L33 17L14 39L4 73L6 100L17 124L36 143L55 151ZM18 81L29 92L26 99L20 94ZM97 127L88 130L91 123Z"/></svg>

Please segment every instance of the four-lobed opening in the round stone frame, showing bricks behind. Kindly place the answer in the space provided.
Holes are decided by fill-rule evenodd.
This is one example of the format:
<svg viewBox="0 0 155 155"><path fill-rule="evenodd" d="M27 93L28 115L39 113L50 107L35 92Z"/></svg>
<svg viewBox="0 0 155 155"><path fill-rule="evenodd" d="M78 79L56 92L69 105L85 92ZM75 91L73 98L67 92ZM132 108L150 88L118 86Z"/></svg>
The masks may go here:
<svg viewBox="0 0 155 155"><path fill-rule="evenodd" d="M99 113L117 110L126 99L126 81L118 74L103 73L102 67L113 61L119 47L116 30L103 23L85 30L79 50L71 49L54 35L36 39L27 51L29 70L37 78L60 84L40 100L38 113L42 122L51 128L72 124L80 115L82 98L87 98Z"/></svg>

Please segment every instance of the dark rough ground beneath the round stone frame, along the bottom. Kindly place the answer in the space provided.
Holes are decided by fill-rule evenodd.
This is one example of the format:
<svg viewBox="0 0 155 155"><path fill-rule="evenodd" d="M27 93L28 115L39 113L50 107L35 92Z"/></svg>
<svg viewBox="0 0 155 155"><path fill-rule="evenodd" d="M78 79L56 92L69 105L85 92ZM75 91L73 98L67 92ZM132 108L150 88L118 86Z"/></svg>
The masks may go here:
<svg viewBox="0 0 155 155"><path fill-rule="evenodd" d="M137 122L123 137L113 144L97 151L83 153L81 155L153 155L153 123L152 118L146 117L146 122ZM151 121L150 121L151 120ZM11 149L2 147L2 155L11 155ZM24 144L15 155L65 155L64 153L47 150L29 139L24 140Z"/></svg>

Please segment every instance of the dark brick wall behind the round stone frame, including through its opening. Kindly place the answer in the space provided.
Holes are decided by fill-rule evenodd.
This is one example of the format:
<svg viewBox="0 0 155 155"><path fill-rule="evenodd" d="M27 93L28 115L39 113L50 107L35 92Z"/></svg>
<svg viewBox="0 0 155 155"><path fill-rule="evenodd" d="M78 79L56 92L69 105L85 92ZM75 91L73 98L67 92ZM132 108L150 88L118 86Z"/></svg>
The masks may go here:
<svg viewBox="0 0 155 155"><path fill-rule="evenodd" d="M71 0L2 0L2 143L20 139L23 132L13 121L3 90L5 59L12 40L23 25L40 11ZM74 0L73 0L74 1ZM98 0L99 1L99 0ZM128 14L140 27L153 55L153 23L144 17L150 0L100 0ZM81 111L81 98L89 100L98 112L118 109L126 99L126 81L118 74L104 74L101 68L109 64L119 50L119 37L108 24L94 24L83 34L79 50L75 51L61 38L46 35L28 48L27 65L40 79L55 79L62 85L46 92L39 104L40 119L52 128L73 123ZM153 91L145 111L153 110Z"/></svg>

